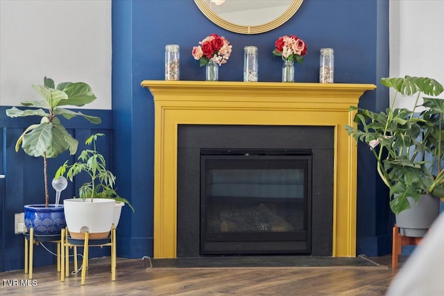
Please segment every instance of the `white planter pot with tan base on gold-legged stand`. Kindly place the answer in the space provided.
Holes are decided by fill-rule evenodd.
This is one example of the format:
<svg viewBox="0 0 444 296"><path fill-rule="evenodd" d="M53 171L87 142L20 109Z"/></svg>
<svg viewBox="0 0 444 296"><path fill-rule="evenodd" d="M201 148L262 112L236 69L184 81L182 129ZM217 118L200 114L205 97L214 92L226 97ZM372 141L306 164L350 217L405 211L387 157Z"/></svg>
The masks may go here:
<svg viewBox="0 0 444 296"><path fill-rule="evenodd" d="M83 239L89 232L90 239L108 237L113 218L115 200L108 198L69 198L63 200L65 220L72 238Z"/></svg>

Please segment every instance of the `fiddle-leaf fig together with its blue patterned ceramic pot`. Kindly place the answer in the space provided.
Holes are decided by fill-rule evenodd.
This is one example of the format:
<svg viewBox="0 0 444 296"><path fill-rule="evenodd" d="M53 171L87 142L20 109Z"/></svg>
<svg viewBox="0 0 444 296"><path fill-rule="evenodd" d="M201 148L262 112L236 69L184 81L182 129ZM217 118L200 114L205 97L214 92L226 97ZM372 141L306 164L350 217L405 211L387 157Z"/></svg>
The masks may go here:
<svg viewBox="0 0 444 296"><path fill-rule="evenodd" d="M91 87L85 82L62 82L56 87L51 78L45 77L44 85L32 85L32 87L44 100L22 102L22 105L30 108L19 110L17 107L12 107L6 110L6 115L12 118L41 117L40 123L32 124L24 130L23 134L17 139L15 150L18 152L20 146L22 146L26 154L33 157L42 157L44 164L44 204L28 204L25 206L26 229L29 231L29 228L33 227L36 235L55 235L60 234L60 229L65 227L65 218L63 207L55 207L54 204L49 204L46 159L57 157L66 150L74 155L78 146L78 141L71 137L58 116L63 116L66 119L83 116L92 123L100 123L101 119L64 108L68 105L81 107L96 99Z"/></svg>

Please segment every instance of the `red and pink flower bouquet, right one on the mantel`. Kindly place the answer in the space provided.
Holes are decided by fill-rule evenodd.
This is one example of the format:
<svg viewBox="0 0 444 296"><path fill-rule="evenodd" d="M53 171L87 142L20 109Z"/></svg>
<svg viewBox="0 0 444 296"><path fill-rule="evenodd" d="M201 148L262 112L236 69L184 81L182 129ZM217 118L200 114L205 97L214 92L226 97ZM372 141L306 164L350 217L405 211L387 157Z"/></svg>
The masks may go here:
<svg viewBox="0 0 444 296"><path fill-rule="evenodd" d="M307 46L298 36L285 35L279 37L275 42L276 48L273 50L273 55L282 57L282 60L293 60L302 64L304 57L307 53Z"/></svg>

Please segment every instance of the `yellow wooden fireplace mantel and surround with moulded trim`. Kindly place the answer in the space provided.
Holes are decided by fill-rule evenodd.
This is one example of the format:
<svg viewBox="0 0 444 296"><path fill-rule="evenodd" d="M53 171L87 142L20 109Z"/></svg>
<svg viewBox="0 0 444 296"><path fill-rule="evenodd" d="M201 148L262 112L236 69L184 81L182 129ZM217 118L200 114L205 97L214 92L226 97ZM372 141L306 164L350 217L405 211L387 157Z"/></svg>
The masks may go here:
<svg viewBox="0 0 444 296"><path fill-rule="evenodd" d="M178 125L334 127L333 256L356 256L356 143L345 132L371 84L144 80L155 102L154 257L176 258Z"/></svg>

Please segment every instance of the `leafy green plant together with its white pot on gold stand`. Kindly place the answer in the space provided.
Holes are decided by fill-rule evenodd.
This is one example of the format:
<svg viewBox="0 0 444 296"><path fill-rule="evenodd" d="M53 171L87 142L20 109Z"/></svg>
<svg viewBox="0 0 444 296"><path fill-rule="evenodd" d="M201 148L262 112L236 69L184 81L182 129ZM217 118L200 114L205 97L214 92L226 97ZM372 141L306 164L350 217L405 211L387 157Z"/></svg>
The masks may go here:
<svg viewBox="0 0 444 296"><path fill-rule="evenodd" d="M69 165L65 162L58 168L55 179L66 174L73 182L80 173L89 176L78 190L80 198L64 200L65 218L72 238L83 238L83 232L89 232L90 238L106 238L112 224L117 227L124 204L134 211L133 206L122 198L114 189L116 177L106 168L105 157L97 152L96 141L104 134L92 134L85 143L92 149L83 150L78 156L78 162Z"/></svg>

